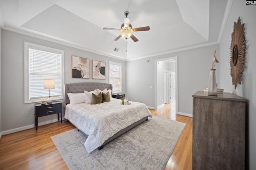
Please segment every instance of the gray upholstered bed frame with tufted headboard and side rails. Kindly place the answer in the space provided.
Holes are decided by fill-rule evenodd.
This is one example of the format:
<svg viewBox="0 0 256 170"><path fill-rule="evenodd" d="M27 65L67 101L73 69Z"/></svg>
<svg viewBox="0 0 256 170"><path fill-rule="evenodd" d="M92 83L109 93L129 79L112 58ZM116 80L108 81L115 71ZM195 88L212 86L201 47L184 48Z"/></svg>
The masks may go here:
<svg viewBox="0 0 256 170"><path fill-rule="evenodd" d="M112 86L112 84L100 83L100 82L82 82L82 83L65 84L65 97L64 97L64 104L63 104L63 106L64 106L63 116L65 116L66 105L70 103L68 95L67 95L68 93L83 93L84 90L90 92L90 91L93 91L95 89L104 90L105 88L107 90L109 90L109 89L112 90L113 86ZM142 123L143 121L147 121L147 120L148 120L148 116L140 119L139 121L134 122L132 125L129 125L128 127L124 128L124 129L122 129L121 131L117 132L114 136L112 136L108 140L106 140L98 149L101 150L104 147L104 145L106 145L107 143L109 143L110 141L115 139L116 137L122 135L126 131L132 129L136 125ZM68 120L64 119L64 121L67 122ZM80 129L78 129L78 131L80 131ZM84 134L84 135L86 135L86 134ZM88 136L88 135L86 135L86 136Z"/></svg>

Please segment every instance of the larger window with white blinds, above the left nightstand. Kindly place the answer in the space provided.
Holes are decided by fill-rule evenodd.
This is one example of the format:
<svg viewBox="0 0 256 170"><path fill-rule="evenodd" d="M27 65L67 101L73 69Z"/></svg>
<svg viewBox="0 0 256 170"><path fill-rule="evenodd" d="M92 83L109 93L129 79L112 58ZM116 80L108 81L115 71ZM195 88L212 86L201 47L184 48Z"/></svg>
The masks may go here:
<svg viewBox="0 0 256 170"><path fill-rule="evenodd" d="M41 102L49 98L49 89L44 89L44 79L55 80L50 89L53 100L63 99L64 93L64 51L24 43L24 102Z"/></svg>

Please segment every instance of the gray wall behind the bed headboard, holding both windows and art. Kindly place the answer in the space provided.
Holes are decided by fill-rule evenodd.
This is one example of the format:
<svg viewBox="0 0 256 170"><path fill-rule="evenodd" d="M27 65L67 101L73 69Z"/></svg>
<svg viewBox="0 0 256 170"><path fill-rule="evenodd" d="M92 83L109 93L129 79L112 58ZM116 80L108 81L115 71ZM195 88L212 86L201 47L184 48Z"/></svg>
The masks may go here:
<svg viewBox="0 0 256 170"><path fill-rule="evenodd" d="M113 59L110 57L90 53L88 51L68 47L58 43L53 43L43 39L30 37L20 33L2 29L2 129L7 131L10 129L24 127L25 129L34 125L34 104L24 104L24 41L44 45L65 51L65 83L72 82L109 82L109 61L122 63L123 75L126 74L126 62ZM106 79L78 79L71 78L71 56L84 57L93 60L106 62ZM90 64L92 66L92 64ZM91 70L90 70L91 72ZM126 79L123 79L123 91L126 92ZM39 123L57 119L56 115L40 117Z"/></svg>

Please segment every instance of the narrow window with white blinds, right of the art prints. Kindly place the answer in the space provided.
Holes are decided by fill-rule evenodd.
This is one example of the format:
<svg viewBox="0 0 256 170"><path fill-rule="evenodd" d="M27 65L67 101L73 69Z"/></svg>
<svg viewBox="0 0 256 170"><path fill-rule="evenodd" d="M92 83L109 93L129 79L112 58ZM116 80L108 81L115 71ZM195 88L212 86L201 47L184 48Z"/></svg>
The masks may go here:
<svg viewBox="0 0 256 170"><path fill-rule="evenodd" d="M122 64L116 62L109 62L110 69L109 69L109 83L113 86L113 93L122 92ZM121 86L116 86L116 81L121 82Z"/></svg>

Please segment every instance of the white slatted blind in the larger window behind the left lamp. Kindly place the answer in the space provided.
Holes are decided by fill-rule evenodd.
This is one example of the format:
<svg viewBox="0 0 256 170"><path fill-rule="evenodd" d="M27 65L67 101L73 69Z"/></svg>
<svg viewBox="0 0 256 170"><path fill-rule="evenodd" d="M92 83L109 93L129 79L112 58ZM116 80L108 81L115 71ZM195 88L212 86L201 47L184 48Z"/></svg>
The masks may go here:
<svg viewBox="0 0 256 170"><path fill-rule="evenodd" d="M61 53L52 53L29 48L29 99L49 97L49 89L44 89L44 79L55 80L55 89L50 96L62 95Z"/></svg>

